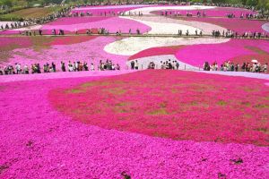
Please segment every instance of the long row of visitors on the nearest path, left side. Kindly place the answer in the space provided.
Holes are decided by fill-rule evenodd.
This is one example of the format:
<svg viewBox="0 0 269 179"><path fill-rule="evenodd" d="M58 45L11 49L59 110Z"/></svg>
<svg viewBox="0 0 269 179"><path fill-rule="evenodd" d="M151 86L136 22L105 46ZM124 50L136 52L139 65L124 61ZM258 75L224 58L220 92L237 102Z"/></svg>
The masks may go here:
<svg viewBox="0 0 269 179"><path fill-rule="evenodd" d="M41 73L41 72L81 72L81 71L115 71L120 70L119 64L112 63L111 60L106 60L103 62L100 60L100 63L95 67L95 64L91 63L89 66L86 62L69 61L67 65L65 62L61 62L61 69L56 69L56 64L44 64L43 68L40 64L7 64L3 68L0 66L0 75L4 74L29 74L29 73Z"/></svg>

